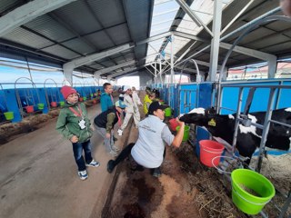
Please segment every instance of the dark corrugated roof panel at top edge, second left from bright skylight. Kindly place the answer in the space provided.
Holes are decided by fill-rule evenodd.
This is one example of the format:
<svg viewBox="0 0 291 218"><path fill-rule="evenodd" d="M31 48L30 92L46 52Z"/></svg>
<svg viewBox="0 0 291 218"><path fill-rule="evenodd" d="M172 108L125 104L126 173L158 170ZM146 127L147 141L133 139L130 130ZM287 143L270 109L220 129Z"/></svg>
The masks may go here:
<svg viewBox="0 0 291 218"><path fill-rule="evenodd" d="M123 1L87 0L87 2L104 27L125 22Z"/></svg>

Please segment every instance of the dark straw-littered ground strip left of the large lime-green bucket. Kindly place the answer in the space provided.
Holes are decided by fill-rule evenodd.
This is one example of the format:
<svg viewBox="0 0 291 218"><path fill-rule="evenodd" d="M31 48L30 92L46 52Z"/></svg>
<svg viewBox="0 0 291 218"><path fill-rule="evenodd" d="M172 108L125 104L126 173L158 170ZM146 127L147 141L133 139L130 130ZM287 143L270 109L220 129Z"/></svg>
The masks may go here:
<svg viewBox="0 0 291 218"><path fill-rule="evenodd" d="M204 210L208 217L247 217L232 203L231 183L215 169L201 164L190 144L184 144L175 153L181 162L181 169L187 173L191 188L197 189L195 201L199 211Z"/></svg>

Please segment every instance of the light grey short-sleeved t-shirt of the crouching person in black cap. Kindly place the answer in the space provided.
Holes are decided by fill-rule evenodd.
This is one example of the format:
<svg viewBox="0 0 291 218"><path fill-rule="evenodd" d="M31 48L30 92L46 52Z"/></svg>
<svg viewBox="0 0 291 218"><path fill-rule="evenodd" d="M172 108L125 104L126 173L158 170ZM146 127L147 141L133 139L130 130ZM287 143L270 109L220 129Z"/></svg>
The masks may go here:
<svg viewBox="0 0 291 218"><path fill-rule="evenodd" d="M139 135L131 155L135 162L146 168L156 168L163 163L165 145L171 145L175 136L168 126L155 115L149 115L138 124Z"/></svg>

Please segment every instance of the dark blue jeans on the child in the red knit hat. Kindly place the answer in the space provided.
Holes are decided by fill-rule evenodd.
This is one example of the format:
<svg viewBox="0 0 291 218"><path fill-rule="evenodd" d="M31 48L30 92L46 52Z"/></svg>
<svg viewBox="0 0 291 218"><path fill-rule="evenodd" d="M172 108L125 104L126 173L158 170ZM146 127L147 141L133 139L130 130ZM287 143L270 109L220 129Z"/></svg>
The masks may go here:
<svg viewBox="0 0 291 218"><path fill-rule="evenodd" d="M83 157L83 150L85 153L85 161ZM91 143L88 140L85 143L73 144L73 152L75 157L75 163L78 166L78 171L85 171L85 163L91 163L93 158L91 156Z"/></svg>

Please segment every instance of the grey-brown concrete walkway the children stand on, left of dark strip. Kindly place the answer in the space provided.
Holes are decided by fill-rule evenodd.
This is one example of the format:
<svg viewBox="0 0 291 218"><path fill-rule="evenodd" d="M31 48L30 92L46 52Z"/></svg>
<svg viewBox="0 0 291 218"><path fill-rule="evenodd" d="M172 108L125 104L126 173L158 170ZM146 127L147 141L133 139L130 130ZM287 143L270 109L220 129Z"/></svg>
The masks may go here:
<svg viewBox="0 0 291 218"><path fill-rule="evenodd" d="M93 121L99 104L88 108ZM88 168L81 181L72 144L55 131L56 119L44 127L0 146L0 217L100 217L113 174L106 172L112 157L95 132L92 155L101 163ZM128 128L127 128L128 131ZM116 145L125 144L125 135Z"/></svg>

